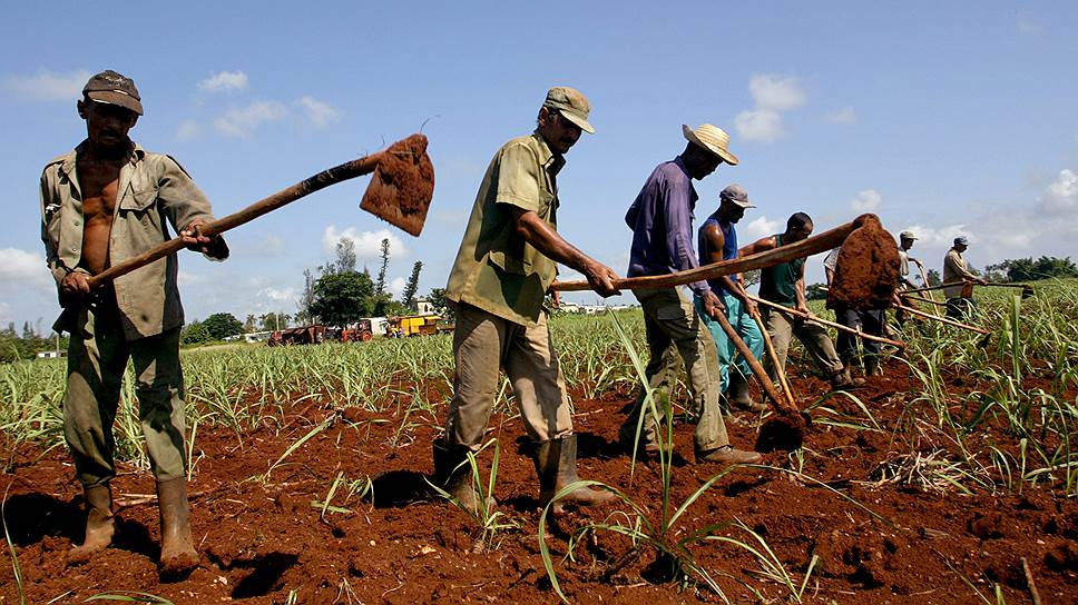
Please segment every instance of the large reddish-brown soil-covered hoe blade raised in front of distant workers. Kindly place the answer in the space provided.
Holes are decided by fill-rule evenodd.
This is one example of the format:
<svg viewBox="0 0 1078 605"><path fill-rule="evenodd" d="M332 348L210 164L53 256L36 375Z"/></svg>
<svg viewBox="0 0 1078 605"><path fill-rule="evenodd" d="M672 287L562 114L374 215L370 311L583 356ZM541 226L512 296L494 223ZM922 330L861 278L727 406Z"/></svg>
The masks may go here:
<svg viewBox="0 0 1078 605"><path fill-rule="evenodd" d="M839 251L827 308L888 308L899 284L899 247L875 215L861 215L856 222Z"/></svg>

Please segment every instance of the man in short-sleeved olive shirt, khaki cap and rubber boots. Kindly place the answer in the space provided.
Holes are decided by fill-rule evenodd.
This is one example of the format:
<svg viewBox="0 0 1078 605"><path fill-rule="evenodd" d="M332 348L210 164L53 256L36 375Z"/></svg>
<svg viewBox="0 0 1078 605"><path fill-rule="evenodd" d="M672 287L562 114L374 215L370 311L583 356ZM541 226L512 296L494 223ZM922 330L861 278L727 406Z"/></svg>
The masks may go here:
<svg viewBox="0 0 1078 605"><path fill-rule="evenodd" d="M512 383L525 430L533 442L539 496L546 504L577 477L577 437L543 297L556 262L588 278L602 296L618 294L617 275L558 235L558 173L565 155L594 132L590 105L578 90L555 87L539 108L538 127L494 153L472 207L449 276L445 297L457 307L453 399L445 434L433 443L434 477L465 507L480 506L467 464L482 445L498 393L499 368ZM590 504L614 497L578 489L567 498Z"/></svg>

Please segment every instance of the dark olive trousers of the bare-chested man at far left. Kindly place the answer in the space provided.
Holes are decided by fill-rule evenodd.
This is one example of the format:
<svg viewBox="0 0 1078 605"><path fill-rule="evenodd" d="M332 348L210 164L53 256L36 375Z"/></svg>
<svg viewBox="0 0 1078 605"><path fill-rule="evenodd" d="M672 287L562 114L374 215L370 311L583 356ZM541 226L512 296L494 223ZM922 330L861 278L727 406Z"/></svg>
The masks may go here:
<svg viewBox="0 0 1078 605"><path fill-rule="evenodd" d="M138 420L154 475L159 480L186 476L179 328L128 341L116 307L98 305L78 311L63 394L63 437L85 486L116 475L112 424L128 359L135 365Z"/></svg>

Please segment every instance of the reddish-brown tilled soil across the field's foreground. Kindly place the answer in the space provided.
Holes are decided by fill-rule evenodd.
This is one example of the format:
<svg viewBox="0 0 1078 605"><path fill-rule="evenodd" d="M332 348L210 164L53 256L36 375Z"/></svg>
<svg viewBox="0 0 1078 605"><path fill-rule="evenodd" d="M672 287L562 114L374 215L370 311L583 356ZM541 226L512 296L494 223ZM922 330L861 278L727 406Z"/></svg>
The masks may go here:
<svg viewBox="0 0 1078 605"><path fill-rule="evenodd" d="M883 377L870 379L857 393L871 406L881 432L829 427L821 421L826 414L815 409L803 460L784 453L765 456L765 464L776 467L803 464L804 475L821 483L791 480L791 475L767 468L735 469L687 509L666 544L674 545L710 524L739 520L766 539L797 586L819 557L805 589L806 603L983 603L970 585L994 603L997 584L1008 604L1030 603L1022 558L1045 603L1074 603L1078 595L1075 499L1045 484L1027 486L1022 494L993 494L970 485L973 494L962 495L955 489L937 493L880 479L888 476L885 463L911 450L894 433L900 419L910 421L908 405L918 390L904 367L889 363ZM949 378L952 386L961 380L969 378ZM813 400L826 386L797 376L793 388L801 400ZM624 490L654 519L661 506L657 465L638 463L630 475L629 462L616 445L621 410L630 395L576 400L579 472L584 478ZM1067 394L1070 399L1075 396ZM856 413L856 406L842 396L825 405ZM501 443L494 489L498 506L519 528L497 534L494 547L482 552L476 548L474 522L427 495L423 474L431 470L431 426L441 418L413 411L405 419L393 411L399 406L390 409L384 414L342 410L331 398L317 405L307 399L286 406L283 417L246 432L242 444L228 429L199 427L190 490L202 561L188 577L167 583L157 573L159 530L147 472L125 468L114 483L122 506L114 547L71 567L66 553L81 539L81 497L67 454L61 448L6 447L3 479L10 487L3 516L27 601L82 603L106 591L134 591L177 604L270 604L285 603L294 591L296 603L314 604L556 602L539 553L538 488L530 460L520 454L527 444L519 419L494 415L490 423L491 436ZM286 448L327 418L333 419L330 428L274 468L268 479L259 479ZM413 426L401 432L404 421ZM734 444L747 446L755 439L758 418L741 413L727 426ZM675 429L674 507L723 470L692 463L692 429L687 424ZM967 435L964 445L970 452L988 443L1012 449L1013 442L997 427L988 427ZM933 450L937 447L944 448L940 456L958 456L947 443L931 445ZM489 452L483 459L489 466ZM335 508L323 515L318 503L339 476L343 480L331 502ZM357 493L349 495L346 483L364 477L373 480L373 503ZM560 533L547 538L571 601L719 602L692 586L679 591L676 583L667 582L668 559L646 547L640 556L633 556L626 539L608 533L581 540L576 562L561 561L565 532L588 518L627 520L615 510L629 508L621 504L587 514L572 512L559 519ZM747 533L732 526L717 534L753 543ZM787 602L790 591L767 578L746 551L707 542L690 546L689 552L732 602L758 602L746 586L768 603ZM11 557L4 553L0 603L18 602Z"/></svg>

